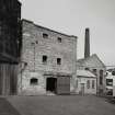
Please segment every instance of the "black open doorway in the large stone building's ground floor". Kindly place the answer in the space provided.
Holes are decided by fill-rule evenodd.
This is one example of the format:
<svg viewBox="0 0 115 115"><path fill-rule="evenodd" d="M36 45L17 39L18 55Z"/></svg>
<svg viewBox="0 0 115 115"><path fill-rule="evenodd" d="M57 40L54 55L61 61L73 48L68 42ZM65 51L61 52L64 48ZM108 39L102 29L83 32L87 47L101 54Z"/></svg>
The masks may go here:
<svg viewBox="0 0 115 115"><path fill-rule="evenodd" d="M50 92L56 93L56 91L57 91L57 78L47 78L46 91L50 91Z"/></svg>

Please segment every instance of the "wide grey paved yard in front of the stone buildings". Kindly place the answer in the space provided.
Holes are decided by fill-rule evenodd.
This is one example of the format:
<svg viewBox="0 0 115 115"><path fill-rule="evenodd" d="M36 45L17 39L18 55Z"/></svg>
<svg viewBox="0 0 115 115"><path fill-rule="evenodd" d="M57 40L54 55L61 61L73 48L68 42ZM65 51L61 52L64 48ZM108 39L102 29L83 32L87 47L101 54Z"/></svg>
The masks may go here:
<svg viewBox="0 0 115 115"><path fill-rule="evenodd" d="M92 95L10 96L8 100L22 115L115 115L114 104Z"/></svg>

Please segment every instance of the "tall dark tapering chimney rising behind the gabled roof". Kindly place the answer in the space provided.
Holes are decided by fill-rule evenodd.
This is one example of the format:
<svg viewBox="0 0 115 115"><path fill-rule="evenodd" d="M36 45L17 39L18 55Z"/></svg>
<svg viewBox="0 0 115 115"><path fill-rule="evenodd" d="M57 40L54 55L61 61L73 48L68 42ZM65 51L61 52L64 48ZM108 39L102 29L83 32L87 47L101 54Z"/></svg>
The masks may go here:
<svg viewBox="0 0 115 115"><path fill-rule="evenodd" d="M90 57L90 30L85 28L84 58Z"/></svg>

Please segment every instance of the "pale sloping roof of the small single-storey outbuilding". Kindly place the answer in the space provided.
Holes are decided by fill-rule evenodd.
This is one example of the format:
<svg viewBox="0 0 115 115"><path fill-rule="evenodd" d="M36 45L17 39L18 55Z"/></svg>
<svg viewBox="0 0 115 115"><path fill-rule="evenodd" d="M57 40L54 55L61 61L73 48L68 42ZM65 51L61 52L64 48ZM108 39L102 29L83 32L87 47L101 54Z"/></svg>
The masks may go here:
<svg viewBox="0 0 115 115"><path fill-rule="evenodd" d="M96 78L96 76L94 76L89 70L77 70L77 76L79 76L79 77L93 77L93 78Z"/></svg>

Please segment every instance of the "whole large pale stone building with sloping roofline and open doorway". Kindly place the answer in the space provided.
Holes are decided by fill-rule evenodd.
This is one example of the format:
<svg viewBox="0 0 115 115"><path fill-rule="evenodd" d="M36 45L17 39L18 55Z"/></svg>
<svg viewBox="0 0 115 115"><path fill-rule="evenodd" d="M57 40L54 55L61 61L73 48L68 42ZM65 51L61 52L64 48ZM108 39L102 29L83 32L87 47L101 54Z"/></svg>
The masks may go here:
<svg viewBox="0 0 115 115"><path fill-rule="evenodd" d="M77 37L23 20L19 94L69 94L76 88Z"/></svg>

